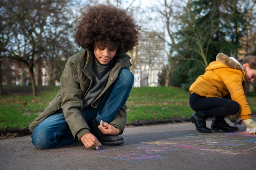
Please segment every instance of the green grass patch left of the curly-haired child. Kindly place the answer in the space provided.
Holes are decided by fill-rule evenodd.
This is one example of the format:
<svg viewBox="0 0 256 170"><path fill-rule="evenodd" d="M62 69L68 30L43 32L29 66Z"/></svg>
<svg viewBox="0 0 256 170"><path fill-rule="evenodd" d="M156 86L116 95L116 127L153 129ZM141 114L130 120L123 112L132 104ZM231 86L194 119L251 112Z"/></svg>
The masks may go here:
<svg viewBox="0 0 256 170"><path fill-rule="evenodd" d="M29 88L31 86L4 86L4 90L7 90L4 92L12 95L0 96L0 128L27 128L60 89L56 86L38 86L38 96L23 94L30 93Z"/></svg>

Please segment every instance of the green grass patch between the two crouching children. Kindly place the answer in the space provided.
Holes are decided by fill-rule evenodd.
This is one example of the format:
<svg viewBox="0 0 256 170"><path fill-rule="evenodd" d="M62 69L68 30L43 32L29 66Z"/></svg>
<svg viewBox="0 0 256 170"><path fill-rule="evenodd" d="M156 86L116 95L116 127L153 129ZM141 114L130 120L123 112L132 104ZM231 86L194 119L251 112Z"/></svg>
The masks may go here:
<svg viewBox="0 0 256 170"><path fill-rule="evenodd" d="M127 122L188 118L189 93L175 87L133 88L128 101Z"/></svg>

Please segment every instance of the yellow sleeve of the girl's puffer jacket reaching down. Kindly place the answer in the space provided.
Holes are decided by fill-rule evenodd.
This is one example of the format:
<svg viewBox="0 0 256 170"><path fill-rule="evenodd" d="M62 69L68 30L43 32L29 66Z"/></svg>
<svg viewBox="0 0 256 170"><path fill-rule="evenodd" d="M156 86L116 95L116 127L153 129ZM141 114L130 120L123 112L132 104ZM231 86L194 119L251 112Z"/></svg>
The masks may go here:
<svg viewBox="0 0 256 170"><path fill-rule="evenodd" d="M229 90L231 99L238 102L240 109L239 115L241 119L251 118L251 109L247 102L243 89L243 77L238 72L227 71L222 76L222 80Z"/></svg>

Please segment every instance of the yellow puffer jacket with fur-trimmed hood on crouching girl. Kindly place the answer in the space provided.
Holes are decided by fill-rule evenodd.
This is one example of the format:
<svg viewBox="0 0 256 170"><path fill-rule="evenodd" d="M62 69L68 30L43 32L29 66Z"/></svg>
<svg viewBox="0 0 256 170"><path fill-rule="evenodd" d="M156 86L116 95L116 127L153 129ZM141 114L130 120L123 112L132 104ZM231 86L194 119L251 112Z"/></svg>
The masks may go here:
<svg viewBox="0 0 256 170"><path fill-rule="evenodd" d="M243 66L234 57L219 53L216 61L211 62L205 71L190 86L189 91L205 97L222 98L230 95L240 105L240 118L251 118L252 111L244 92L246 76Z"/></svg>

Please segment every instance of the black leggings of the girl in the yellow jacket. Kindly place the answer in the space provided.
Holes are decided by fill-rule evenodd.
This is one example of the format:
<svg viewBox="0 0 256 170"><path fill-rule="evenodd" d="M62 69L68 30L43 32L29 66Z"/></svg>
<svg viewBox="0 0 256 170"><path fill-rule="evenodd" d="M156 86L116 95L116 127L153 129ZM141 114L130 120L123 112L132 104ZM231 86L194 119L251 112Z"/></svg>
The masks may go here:
<svg viewBox="0 0 256 170"><path fill-rule="evenodd" d="M189 105L194 111L203 112L207 117L225 117L234 115L239 111L238 102L217 97L202 97L192 93L189 97Z"/></svg>

